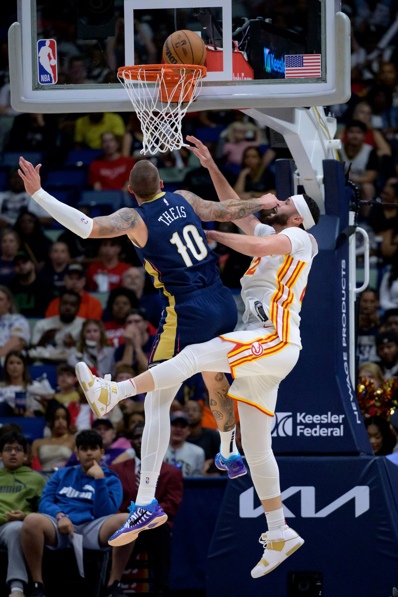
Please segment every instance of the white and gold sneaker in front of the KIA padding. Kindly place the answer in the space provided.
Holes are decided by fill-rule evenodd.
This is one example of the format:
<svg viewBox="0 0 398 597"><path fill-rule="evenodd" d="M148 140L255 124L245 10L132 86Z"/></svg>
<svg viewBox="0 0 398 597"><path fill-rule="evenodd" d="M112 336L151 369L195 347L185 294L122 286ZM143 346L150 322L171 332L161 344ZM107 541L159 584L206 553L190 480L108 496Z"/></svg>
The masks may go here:
<svg viewBox="0 0 398 597"><path fill-rule="evenodd" d="M263 533L258 541L265 549L260 562L251 571L253 578L259 578L274 570L304 543L304 539L287 525L280 531Z"/></svg>

